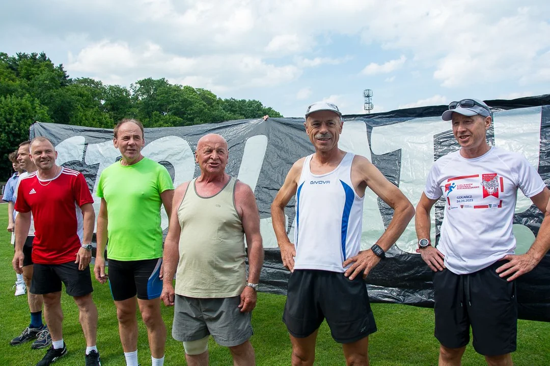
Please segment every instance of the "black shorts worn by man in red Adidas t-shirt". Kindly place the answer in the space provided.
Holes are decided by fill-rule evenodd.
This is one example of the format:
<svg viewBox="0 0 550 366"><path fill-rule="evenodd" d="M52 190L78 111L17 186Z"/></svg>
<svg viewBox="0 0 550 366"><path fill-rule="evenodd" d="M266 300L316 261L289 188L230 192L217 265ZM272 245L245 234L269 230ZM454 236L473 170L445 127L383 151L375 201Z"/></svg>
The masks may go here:
<svg viewBox="0 0 550 366"><path fill-rule="evenodd" d="M61 291L62 282L69 296L84 296L94 291L90 267L79 271L78 263L73 261L62 264L34 264L32 294L44 295Z"/></svg>

